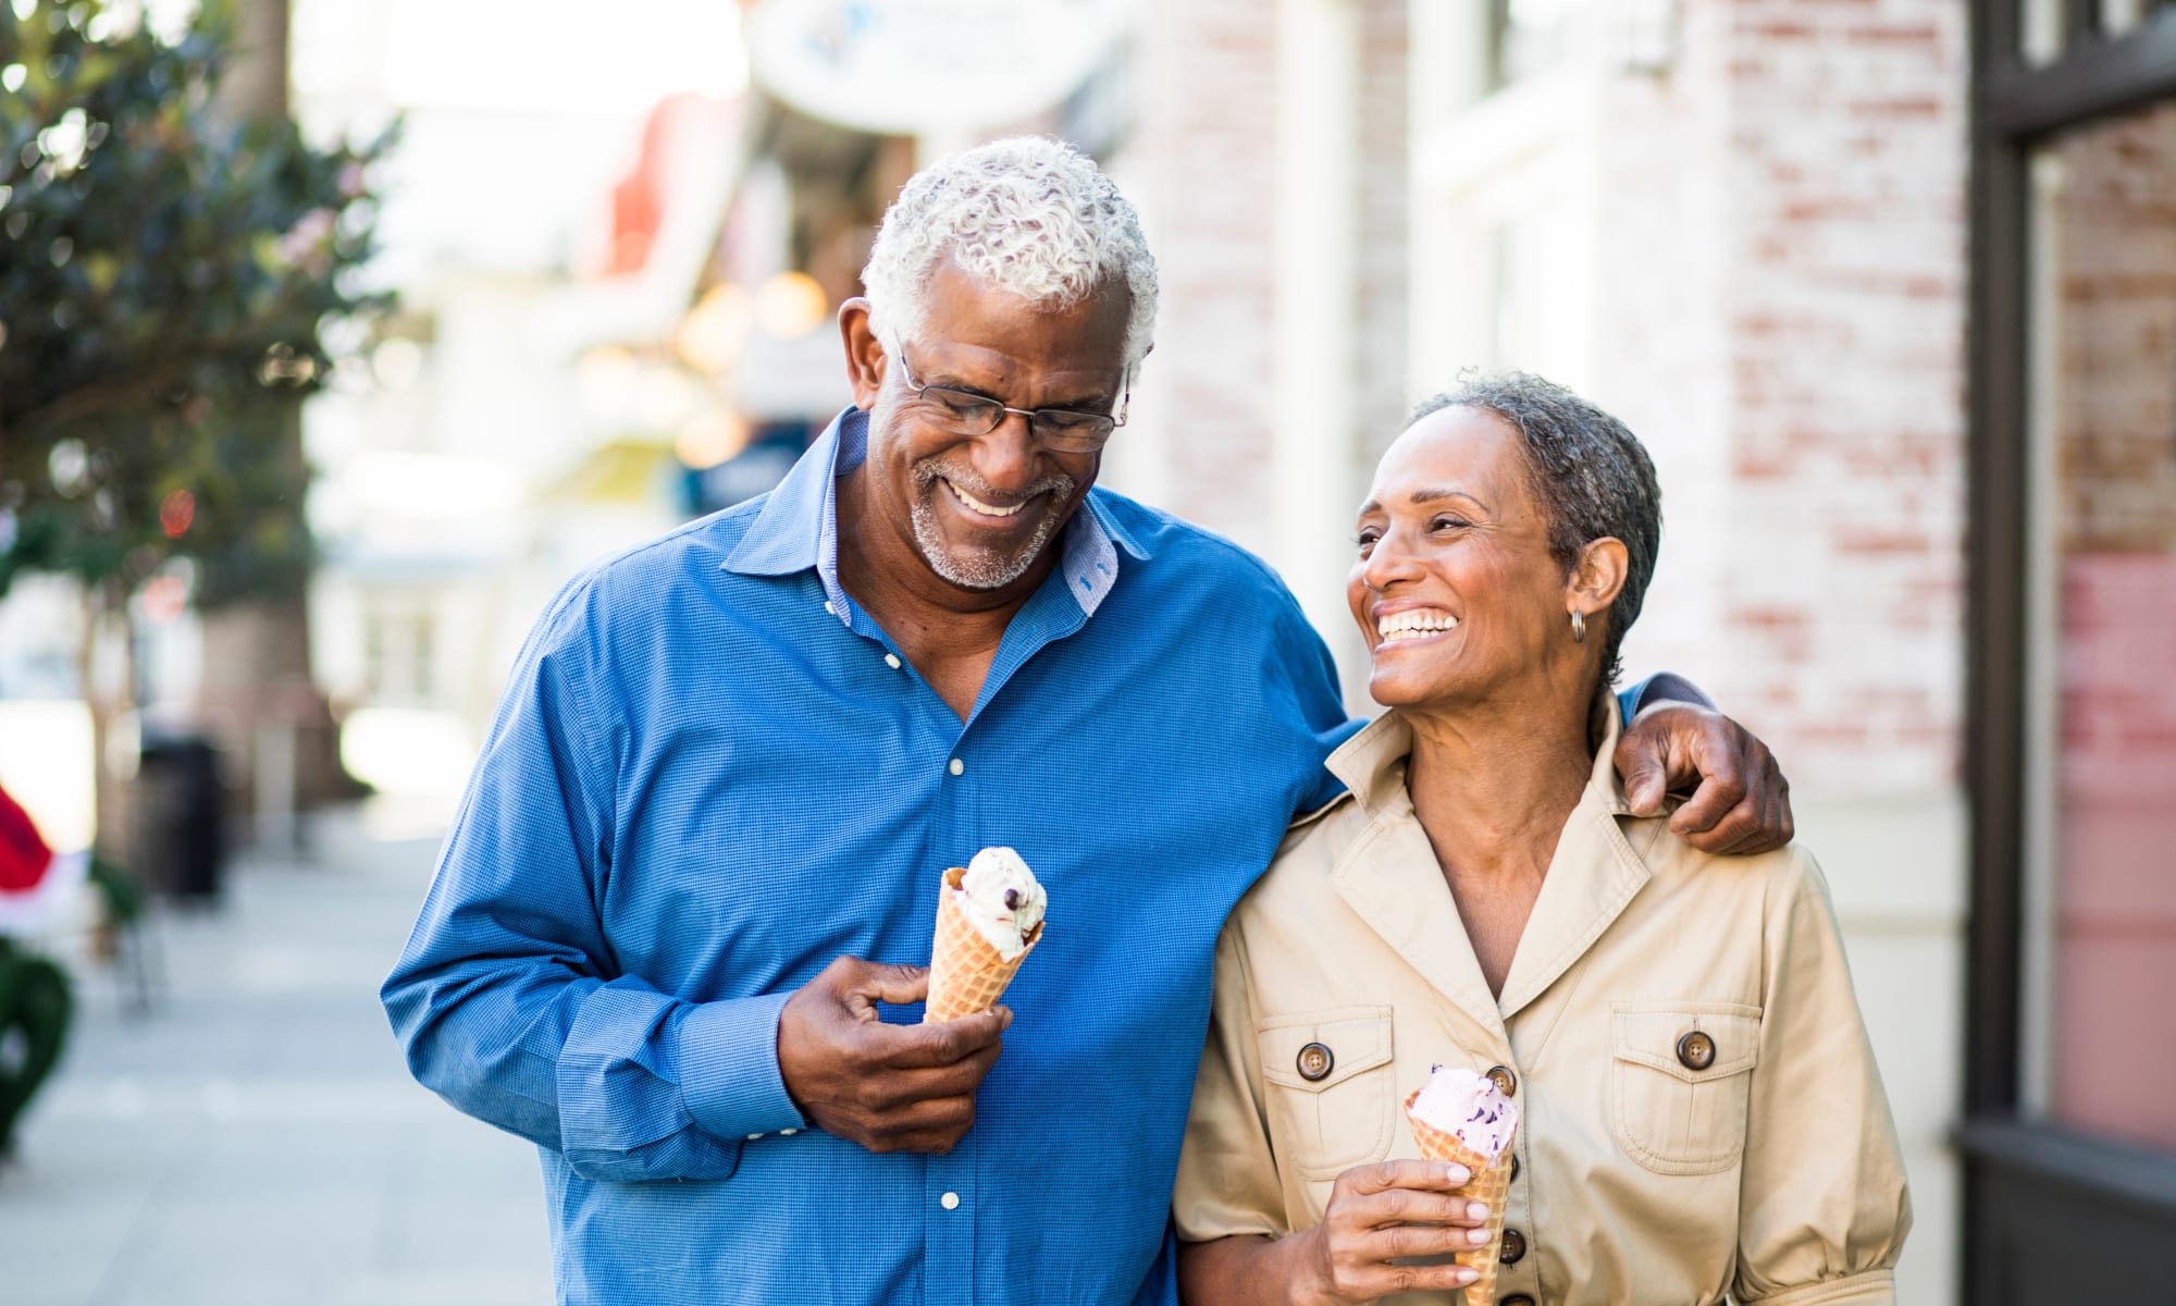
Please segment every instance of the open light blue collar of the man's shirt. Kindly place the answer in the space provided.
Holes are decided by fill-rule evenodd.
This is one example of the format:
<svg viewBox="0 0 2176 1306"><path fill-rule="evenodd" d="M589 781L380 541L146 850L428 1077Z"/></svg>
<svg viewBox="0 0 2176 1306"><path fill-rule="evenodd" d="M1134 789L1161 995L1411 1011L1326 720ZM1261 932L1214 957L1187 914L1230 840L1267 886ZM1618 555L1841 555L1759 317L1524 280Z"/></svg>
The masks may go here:
<svg viewBox="0 0 2176 1306"><path fill-rule="evenodd" d="M720 564L753 577L783 577L816 568L827 607L853 629L853 603L838 583L838 479L868 457L868 414L849 407L764 501L749 533ZM1095 616L1118 579L1118 549L1147 562L1149 551L1118 522L1108 496L1090 490L1060 538L1058 570L1081 614Z"/></svg>

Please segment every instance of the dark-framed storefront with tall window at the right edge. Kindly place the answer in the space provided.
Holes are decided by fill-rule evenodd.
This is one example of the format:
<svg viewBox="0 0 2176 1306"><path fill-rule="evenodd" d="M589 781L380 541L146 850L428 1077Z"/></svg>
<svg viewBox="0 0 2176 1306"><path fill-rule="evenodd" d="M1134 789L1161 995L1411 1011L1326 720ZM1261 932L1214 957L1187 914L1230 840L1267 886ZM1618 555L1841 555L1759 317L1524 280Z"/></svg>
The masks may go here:
<svg viewBox="0 0 2176 1306"><path fill-rule="evenodd" d="M2176 1302L2176 4L1974 33L1965 1302Z"/></svg>

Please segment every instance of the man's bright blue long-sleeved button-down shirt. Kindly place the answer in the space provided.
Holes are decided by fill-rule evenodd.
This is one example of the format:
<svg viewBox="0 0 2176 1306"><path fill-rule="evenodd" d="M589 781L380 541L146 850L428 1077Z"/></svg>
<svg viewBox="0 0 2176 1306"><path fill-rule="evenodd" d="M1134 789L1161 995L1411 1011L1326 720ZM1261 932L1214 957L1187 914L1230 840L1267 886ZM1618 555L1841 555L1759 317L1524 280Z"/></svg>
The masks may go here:
<svg viewBox="0 0 2176 1306"><path fill-rule="evenodd" d="M424 1084L537 1143L561 1302L1171 1302L1216 932L1356 723L1266 566L1105 490L962 723L838 586L864 448L846 411L770 496L557 596L385 1008ZM1051 908L975 1128L812 1130L786 997L925 962L986 845Z"/></svg>

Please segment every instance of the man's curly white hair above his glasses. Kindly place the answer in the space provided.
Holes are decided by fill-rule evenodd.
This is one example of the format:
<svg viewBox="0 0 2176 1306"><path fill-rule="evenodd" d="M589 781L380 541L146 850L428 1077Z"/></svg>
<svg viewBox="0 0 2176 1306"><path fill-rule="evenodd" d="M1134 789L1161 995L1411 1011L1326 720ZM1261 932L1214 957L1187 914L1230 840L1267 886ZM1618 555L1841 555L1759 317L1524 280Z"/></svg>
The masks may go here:
<svg viewBox="0 0 2176 1306"><path fill-rule="evenodd" d="M1007 137L907 178L862 270L870 329L886 346L920 329L929 274L944 257L1049 309L1071 309L1123 283L1132 294L1127 370L1149 353L1155 257L1140 215L1095 159L1064 141Z"/></svg>

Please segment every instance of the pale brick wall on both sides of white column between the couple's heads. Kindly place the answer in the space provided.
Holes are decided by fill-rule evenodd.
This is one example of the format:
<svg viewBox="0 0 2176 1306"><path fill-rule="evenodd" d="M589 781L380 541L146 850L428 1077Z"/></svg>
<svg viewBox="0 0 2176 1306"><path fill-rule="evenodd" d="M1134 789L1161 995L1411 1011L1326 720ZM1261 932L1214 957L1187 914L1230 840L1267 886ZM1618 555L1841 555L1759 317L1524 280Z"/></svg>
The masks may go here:
<svg viewBox="0 0 2176 1306"><path fill-rule="evenodd" d="M1380 448L1406 403L1406 4L1356 0L1360 139L1356 357L1349 433ZM1112 174L1140 205L1162 272L1155 355L1136 392L1114 483L1186 518L1273 551L1275 429L1277 0L1147 7L1134 44L1134 113ZM1330 359L1325 359L1325 366ZM1373 457L1371 453L1367 455ZM1358 505L1358 479L1353 505ZM1345 488L1325 488L1345 494ZM1325 540L1343 549L1343 540Z"/></svg>

